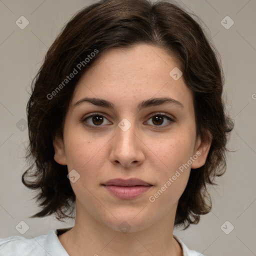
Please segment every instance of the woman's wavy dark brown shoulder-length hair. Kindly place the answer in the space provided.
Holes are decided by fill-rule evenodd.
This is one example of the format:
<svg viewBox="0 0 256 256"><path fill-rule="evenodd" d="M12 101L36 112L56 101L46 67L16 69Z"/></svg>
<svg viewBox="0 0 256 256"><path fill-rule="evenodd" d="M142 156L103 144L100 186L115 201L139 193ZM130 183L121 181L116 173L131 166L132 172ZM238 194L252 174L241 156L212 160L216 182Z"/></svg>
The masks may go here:
<svg viewBox="0 0 256 256"><path fill-rule="evenodd" d="M53 159L52 140L55 135L62 136L75 84L90 64L107 49L137 43L162 47L177 59L183 79L193 93L196 135L212 139L205 164L190 172L178 201L174 225L183 224L186 228L197 223L200 214L210 211L206 185L215 184L215 176L226 169L227 134L233 128L221 98L223 75L217 51L191 13L176 3L101 0L78 11L64 26L31 85L27 103L29 167L22 182L28 188L39 189L35 197L42 209L30 217L54 214L61 221L73 218L75 195L66 176L67 166ZM79 72L65 80L77 65ZM34 179L25 180L26 176Z"/></svg>

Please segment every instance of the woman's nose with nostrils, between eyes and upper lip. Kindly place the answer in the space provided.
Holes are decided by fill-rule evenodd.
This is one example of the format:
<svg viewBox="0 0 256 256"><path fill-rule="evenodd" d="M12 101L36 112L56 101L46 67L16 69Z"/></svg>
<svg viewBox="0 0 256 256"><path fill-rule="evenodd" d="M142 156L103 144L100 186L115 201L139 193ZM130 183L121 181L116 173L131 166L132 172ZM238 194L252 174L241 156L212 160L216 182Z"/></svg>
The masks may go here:
<svg viewBox="0 0 256 256"><path fill-rule="evenodd" d="M116 135L111 141L109 159L115 165L121 164L127 168L135 167L144 161L143 150L145 148L139 131L133 123L128 129L125 129L125 126L122 128L120 125L116 127Z"/></svg>

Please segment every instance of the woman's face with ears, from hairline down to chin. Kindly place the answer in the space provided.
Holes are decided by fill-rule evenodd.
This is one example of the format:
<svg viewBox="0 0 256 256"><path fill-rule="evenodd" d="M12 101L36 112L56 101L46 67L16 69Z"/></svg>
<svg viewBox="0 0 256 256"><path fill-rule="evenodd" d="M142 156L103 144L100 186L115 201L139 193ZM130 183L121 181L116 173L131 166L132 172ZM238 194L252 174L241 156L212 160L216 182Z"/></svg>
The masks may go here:
<svg viewBox="0 0 256 256"><path fill-rule="evenodd" d="M63 140L53 142L54 159L72 170L76 218L90 215L117 231L123 221L130 231L164 218L174 221L190 168L202 166L209 149L196 138L192 93L177 68L165 50L138 44L108 50L80 78ZM150 186L103 185L114 178L139 178Z"/></svg>

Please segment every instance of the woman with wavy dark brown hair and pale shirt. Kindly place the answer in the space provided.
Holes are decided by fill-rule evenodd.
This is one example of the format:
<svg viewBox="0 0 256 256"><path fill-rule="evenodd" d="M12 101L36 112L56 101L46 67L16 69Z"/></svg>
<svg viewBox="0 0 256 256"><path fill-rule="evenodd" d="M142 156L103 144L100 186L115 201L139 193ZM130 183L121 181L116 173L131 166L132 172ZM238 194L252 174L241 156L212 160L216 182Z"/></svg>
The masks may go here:
<svg viewBox="0 0 256 256"><path fill-rule="evenodd" d="M206 185L225 170L233 123L222 88L214 47L177 5L101 0L80 10L34 79L22 176L39 189L32 217L75 209L75 224L0 239L0 255L202 255L173 228L210 211Z"/></svg>

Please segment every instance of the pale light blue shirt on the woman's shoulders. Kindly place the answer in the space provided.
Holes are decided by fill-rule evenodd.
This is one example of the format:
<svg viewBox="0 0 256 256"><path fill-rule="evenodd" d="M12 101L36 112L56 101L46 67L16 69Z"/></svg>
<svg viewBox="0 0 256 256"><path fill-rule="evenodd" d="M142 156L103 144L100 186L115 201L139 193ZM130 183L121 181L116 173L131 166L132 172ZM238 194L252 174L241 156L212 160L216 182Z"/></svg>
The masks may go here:
<svg viewBox="0 0 256 256"><path fill-rule="evenodd" d="M71 228L71 227L70 227ZM0 256L69 256L58 239L58 230L62 232L70 228L51 229L47 234L31 239L23 236L9 236L0 239ZM183 250L183 256L203 256L187 246L175 235ZM99 253L100 255L100 253Z"/></svg>

